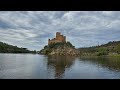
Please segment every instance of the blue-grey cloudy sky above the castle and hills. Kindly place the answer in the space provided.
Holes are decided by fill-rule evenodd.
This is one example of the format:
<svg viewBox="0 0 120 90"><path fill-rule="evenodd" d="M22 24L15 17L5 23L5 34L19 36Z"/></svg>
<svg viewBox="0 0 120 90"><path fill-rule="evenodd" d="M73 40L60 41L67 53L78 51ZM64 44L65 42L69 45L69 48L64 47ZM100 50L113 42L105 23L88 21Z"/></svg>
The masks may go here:
<svg viewBox="0 0 120 90"><path fill-rule="evenodd" d="M40 50L56 32L76 48L120 40L120 11L0 11L0 41Z"/></svg>

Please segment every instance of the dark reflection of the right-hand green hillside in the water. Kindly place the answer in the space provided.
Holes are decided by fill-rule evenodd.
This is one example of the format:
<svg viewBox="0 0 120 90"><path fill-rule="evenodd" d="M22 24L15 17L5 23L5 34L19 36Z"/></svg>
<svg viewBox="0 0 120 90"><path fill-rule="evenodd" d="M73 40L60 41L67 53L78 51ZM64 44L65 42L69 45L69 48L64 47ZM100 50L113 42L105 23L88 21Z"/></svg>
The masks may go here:
<svg viewBox="0 0 120 90"><path fill-rule="evenodd" d="M80 60L89 61L91 63L106 67L110 70L120 71L120 58L119 57L88 57L80 58Z"/></svg>

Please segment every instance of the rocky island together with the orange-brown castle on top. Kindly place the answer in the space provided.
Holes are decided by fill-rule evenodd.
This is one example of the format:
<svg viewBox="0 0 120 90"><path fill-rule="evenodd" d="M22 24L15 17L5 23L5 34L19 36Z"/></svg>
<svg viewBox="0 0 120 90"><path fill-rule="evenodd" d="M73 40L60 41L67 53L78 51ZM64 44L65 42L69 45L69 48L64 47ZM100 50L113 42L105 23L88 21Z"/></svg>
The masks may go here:
<svg viewBox="0 0 120 90"><path fill-rule="evenodd" d="M79 55L79 51L69 42L66 36L56 32L56 37L48 39L48 45L40 51L40 54L47 55Z"/></svg>

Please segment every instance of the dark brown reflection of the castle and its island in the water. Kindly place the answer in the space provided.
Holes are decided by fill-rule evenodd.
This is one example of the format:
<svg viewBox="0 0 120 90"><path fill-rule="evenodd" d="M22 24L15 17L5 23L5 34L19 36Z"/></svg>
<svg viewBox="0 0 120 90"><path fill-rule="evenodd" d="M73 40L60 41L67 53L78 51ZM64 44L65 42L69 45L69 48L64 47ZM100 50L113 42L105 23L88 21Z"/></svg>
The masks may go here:
<svg viewBox="0 0 120 90"><path fill-rule="evenodd" d="M55 78L62 78L65 69L70 68L74 60L75 57L72 56L48 56L48 68L55 69Z"/></svg>

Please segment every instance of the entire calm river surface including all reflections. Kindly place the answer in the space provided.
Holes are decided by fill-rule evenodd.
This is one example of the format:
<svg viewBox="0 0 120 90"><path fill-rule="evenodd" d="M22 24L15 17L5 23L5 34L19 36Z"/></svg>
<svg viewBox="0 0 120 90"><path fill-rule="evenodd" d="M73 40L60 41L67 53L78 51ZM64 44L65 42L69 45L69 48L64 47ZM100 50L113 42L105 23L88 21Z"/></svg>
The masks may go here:
<svg viewBox="0 0 120 90"><path fill-rule="evenodd" d="M120 58L0 54L0 79L120 79Z"/></svg>

